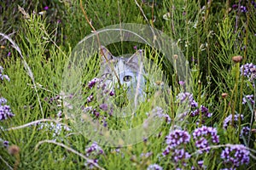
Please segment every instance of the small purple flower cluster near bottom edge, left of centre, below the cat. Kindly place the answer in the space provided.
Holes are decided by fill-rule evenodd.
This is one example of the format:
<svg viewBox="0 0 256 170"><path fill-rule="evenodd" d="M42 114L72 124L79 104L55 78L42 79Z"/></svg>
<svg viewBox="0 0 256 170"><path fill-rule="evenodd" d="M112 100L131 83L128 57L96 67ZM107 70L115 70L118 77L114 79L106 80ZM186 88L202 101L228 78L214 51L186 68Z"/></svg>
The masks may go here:
<svg viewBox="0 0 256 170"><path fill-rule="evenodd" d="M93 158L93 163L90 161L86 161L84 163L85 167L88 167L89 169L94 169L95 164L97 164L98 162L98 159L96 159L96 156L100 156L102 154L104 154L104 151L98 144L96 144L96 142L94 142L90 146L87 146L85 149L85 156Z"/></svg>

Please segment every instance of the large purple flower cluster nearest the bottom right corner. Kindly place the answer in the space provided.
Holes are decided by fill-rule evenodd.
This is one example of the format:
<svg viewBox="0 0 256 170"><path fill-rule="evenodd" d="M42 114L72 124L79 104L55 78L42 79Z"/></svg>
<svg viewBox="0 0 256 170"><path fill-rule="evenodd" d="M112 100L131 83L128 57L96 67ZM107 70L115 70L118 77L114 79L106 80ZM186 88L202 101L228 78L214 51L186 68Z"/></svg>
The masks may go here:
<svg viewBox="0 0 256 170"><path fill-rule="evenodd" d="M224 163L230 163L232 167L239 167L249 163L250 151L242 144L235 144L226 147L221 153L221 158Z"/></svg>

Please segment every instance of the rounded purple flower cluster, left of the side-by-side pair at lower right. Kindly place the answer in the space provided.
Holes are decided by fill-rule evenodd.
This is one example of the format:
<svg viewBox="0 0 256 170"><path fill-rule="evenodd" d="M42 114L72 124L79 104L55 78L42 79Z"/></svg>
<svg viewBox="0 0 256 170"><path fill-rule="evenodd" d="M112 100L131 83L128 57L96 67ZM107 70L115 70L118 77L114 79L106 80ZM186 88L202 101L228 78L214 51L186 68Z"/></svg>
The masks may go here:
<svg viewBox="0 0 256 170"><path fill-rule="evenodd" d="M172 148L180 144L187 144L189 140L189 133L179 129L172 131L166 136L166 144L170 145Z"/></svg>

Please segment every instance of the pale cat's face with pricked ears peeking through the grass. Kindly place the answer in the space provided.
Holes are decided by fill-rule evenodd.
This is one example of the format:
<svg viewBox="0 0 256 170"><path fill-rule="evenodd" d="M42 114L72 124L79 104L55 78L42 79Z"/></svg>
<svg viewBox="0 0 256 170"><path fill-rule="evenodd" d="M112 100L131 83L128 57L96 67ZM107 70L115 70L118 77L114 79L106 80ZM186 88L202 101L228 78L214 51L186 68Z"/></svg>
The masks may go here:
<svg viewBox="0 0 256 170"><path fill-rule="evenodd" d="M143 77L143 51L131 55L130 58L114 57L107 48L101 47L101 74L108 88L121 85L127 88L131 99L137 93L143 95L145 80ZM108 59L108 61L107 61Z"/></svg>

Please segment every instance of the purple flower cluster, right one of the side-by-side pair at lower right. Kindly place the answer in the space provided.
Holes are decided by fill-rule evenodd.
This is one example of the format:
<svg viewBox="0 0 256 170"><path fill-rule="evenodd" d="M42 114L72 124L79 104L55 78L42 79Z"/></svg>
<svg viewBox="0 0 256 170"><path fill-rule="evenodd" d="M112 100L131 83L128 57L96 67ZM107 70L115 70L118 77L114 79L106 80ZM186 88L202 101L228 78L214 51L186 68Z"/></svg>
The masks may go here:
<svg viewBox="0 0 256 170"><path fill-rule="evenodd" d="M205 152L210 151L210 139L213 144L219 143L217 129L213 127L202 126L196 128L193 133L193 139L195 139L195 147L200 149L200 153L202 153L201 150Z"/></svg>

